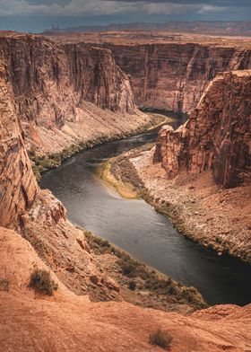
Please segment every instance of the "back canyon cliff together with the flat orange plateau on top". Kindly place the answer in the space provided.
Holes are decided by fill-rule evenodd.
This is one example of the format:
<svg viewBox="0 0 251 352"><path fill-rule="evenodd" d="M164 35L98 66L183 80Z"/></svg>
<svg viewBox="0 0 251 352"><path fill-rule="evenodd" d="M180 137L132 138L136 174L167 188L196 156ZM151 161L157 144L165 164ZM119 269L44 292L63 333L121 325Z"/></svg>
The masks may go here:
<svg viewBox="0 0 251 352"><path fill-rule="evenodd" d="M138 106L191 112L209 82L224 71L251 68L247 38L213 38L170 32L106 31L48 36L111 50L131 79ZM119 40L118 40L119 38Z"/></svg>

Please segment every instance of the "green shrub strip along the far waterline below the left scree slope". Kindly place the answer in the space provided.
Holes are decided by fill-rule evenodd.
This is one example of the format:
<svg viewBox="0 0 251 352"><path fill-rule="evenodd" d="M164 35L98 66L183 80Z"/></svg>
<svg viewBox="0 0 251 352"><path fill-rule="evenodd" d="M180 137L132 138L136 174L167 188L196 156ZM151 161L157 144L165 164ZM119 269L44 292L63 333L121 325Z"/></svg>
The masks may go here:
<svg viewBox="0 0 251 352"><path fill-rule="evenodd" d="M91 149L97 145L102 145L108 142L114 142L119 139L125 139L130 136L136 136L153 128L158 128L159 126L165 125L169 122L168 117L161 116L160 114L152 114L151 119L138 128L131 130L129 132L121 132L118 134L111 134L98 136L94 139L88 139L86 141L78 141L72 145L69 145L67 148L62 151L54 154L44 154L42 156L33 155L28 152L30 157L30 162L32 166L32 171L37 180L41 179L41 175L44 172L49 170L56 169L59 167L65 160L73 157L75 154L83 152L85 150Z"/></svg>

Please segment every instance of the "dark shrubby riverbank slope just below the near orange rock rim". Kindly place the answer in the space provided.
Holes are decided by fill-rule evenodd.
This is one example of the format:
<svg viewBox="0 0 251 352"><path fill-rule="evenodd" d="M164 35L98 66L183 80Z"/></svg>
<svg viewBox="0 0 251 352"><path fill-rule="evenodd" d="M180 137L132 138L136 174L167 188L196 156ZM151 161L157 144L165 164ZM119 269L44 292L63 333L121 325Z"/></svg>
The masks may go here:
<svg viewBox="0 0 251 352"><path fill-rule="evenodd" d="M127 280L127 283L123 286L121 285L121 279L119 279L119 274L117 273L117 270L114 269L114 266L112 268L114 275L113 278L123 290L127 289L127 292L149 292L153 296L153 301L159 301L163 299L163 296L166 296L167 301L162 308L175 305L176 308L173 308L174 312L178 310L178 312L183 311L183 313L189 314L209 307L209 304L205 302L203 296L195 287L188 287L177 282L157 269L152 268L139 260L134 260L130 253L124 251L114 243L108 242L108 240L105 240L82 227L76 227L84 234L92 254L95 254L96 257L97 255L102 256L106 254L115 257L115 264L120 268L120 275ZM138 287L137 279L140 280L143 287ZM136 285L133 288L130 288L132 283ZM131 301L130 303L135 304L134 301ZM142 306L149 308L147 305ZM166 311L166 309L153 308Z"/></svg>

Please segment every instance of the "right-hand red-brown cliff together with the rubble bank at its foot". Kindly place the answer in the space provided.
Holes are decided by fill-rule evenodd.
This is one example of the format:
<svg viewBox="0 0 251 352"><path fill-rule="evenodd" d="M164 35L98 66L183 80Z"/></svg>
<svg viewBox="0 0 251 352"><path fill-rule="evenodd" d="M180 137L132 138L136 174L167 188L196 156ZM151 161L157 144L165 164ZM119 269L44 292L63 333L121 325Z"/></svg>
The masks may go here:
<svg viewBox="0 0 251 352"><path fill-rule="evenodd" d="M129 176L134 190L181 233L249 263L250 79L250 70L217 75L184 125L124 155L139 178ZM120 164L112 161L117 180L128 177Z"/></svg>

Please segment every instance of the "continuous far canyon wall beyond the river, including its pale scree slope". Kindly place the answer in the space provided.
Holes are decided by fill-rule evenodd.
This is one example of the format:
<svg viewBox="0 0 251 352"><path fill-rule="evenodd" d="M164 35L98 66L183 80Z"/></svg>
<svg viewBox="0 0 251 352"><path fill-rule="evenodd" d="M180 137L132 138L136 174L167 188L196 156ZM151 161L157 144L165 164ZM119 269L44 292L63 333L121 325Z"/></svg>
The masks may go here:
<svg viewBox="0 0 251 352"><path fill-rule="evenodd" d="M134 100L191 111L219 72L251 67L251 50L241 47L177 42L100 47L2 32L0 55L28 149L56 153L84 139L123 136L149 121Z"/></svg>

